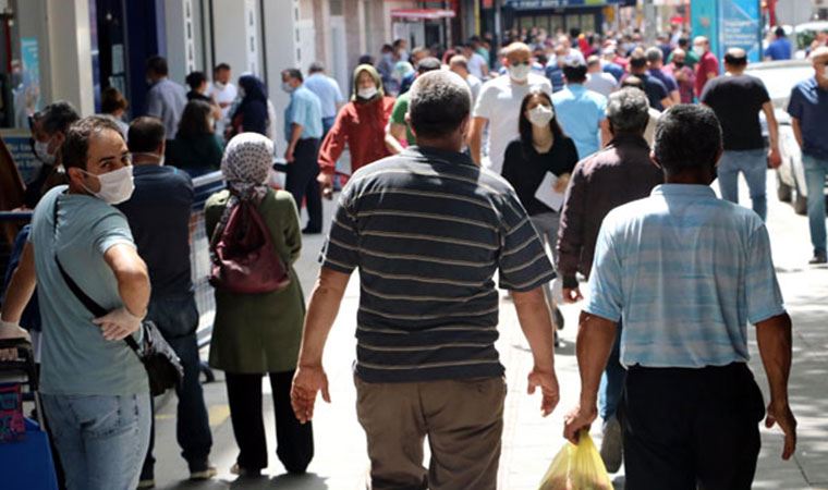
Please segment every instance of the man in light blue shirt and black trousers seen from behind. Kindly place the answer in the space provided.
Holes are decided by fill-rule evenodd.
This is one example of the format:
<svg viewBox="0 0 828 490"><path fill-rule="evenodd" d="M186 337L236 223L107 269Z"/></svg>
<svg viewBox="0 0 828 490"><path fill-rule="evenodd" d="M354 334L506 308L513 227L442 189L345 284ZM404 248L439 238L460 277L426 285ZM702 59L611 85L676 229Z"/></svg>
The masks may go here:
<svg viewBox="0 0 828 490"><path fill-rule="evenodd" d="M748 321L770 387L766 426L784 432L783 460L795 450L791 319L765 224L709 187L721 143L713 110L670 108L654 148L665 184L612 210L598 236L577 339L580 404L564 436L575 441L596 418L598 373L623 317L629 490L751 488L765 407L747 367Z"/></svg>

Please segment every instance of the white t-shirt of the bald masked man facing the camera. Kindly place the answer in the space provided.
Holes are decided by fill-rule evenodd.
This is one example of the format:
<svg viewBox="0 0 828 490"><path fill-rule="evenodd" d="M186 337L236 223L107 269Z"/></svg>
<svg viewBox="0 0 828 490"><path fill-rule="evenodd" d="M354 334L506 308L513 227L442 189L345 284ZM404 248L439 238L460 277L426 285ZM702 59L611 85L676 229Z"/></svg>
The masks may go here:
<svg viewBox="0 0 828 490"><path fill-rule="evenodd" d="M484 160L484 163L498 175L503 169L506 147L520 136L518 120L521 102L533 88L552 94L552 84L549 83L549 78L534 73L529 73L528 79L522 85L512 82L509 75L502 75L486 82L480 88L473 115L489 121L489 139L486 143L489 161L487 163Z"/></svg>

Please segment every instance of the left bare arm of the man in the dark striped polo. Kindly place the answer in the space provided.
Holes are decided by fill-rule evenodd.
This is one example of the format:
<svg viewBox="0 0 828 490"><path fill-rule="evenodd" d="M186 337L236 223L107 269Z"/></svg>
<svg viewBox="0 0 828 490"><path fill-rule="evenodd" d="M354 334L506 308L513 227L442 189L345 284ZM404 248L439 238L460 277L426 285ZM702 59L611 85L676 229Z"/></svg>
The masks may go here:
<svg viewBox="0 0 828 490"><path fill-rule="evenodd" d="M337 319L350 274L327 267L319 270L302 332L299 366L291 388L291 405L296 418L305 424L314 417L316 394L330 403L328 377L322 369L322 352L333 321Z"/></svg>

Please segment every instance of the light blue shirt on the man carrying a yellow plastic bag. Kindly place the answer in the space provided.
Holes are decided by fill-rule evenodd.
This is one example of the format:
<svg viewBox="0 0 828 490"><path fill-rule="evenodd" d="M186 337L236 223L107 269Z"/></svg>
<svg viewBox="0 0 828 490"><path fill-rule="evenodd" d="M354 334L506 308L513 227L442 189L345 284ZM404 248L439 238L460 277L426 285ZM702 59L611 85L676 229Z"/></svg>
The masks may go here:
<svg viewBox="0 0 828 490"><path fill-rule="evenodd" d="M628 367L747 362L747 322L784 313L762 219L708 186L659 185L610 211L592 270L584 309L623 318Z"/></svg>

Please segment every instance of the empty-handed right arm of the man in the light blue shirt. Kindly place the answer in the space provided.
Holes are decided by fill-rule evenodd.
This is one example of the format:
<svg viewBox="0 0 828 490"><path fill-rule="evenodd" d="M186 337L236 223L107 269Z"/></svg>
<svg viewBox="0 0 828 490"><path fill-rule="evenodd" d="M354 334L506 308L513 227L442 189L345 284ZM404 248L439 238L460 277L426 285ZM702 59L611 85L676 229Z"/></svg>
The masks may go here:
<svg viewBox="0 0 828 490"><path fill-rule="evenodd" d="M778 315L756 323L762 364L770 387L770 403L765 426L778 424L784 432L782 460L789 460L796 449L796 419L788 403L788 378L791 373L791 317Z"/></svg>

